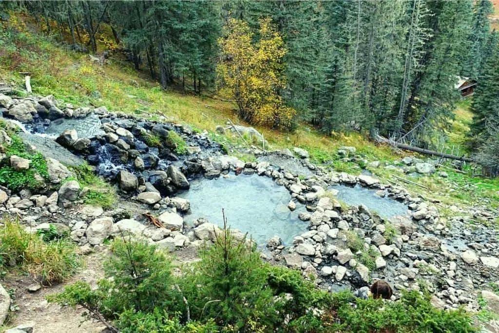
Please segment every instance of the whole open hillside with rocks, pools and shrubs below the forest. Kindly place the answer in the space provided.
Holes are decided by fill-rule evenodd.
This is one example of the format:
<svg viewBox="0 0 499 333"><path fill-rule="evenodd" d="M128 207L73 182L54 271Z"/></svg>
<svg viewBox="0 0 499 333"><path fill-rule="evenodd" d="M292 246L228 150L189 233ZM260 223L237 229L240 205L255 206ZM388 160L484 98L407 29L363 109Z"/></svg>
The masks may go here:
<svg viewBox="0 0 499 333"><path fill-rule="evenodd" d="M225 97L181 93L179 82L163 89L127 61L106 24L94 57L25 12L8 14L0 21L0 87L12 88L0 95L0 199L10 216L0 265L13 306L5 327L493 330L498 179L375 143L365 131L246 123ZM464 155L470 100L454 115L434 140ZM219 211L194 218L219 201L228 221ZM226 230L233 220L256 227ZM379 279L393 286L383 297L393 302L363 299ZM344 288L356 296L336 293ZM91 320L79 327L81 307Z"/></svg>

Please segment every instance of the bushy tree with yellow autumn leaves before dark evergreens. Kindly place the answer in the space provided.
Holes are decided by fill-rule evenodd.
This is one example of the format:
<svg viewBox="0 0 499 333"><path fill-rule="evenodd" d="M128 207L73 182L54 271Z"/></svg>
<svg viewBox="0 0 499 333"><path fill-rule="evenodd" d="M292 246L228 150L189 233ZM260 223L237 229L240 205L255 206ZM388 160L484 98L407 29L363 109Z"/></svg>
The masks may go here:
<svg viewBox="0 0 499 333"><path fill-rule="evenodd" d="M247 22L231 19L228 34L219 39L222 56L217 66L221 94L238 105L239 116L249 122L273 128L290 127L296 111L279 95L285 88L282 58L286 48L269 18L259 21L259 40Z"/></svg>

